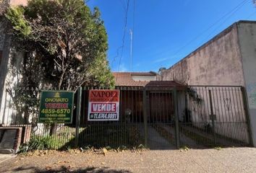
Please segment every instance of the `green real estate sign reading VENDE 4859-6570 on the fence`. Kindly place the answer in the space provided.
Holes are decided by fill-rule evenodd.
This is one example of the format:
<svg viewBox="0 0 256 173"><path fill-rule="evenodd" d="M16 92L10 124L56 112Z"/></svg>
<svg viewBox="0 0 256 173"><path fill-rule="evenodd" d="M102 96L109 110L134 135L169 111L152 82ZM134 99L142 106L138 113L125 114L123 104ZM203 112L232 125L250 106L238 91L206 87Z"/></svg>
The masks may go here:
<svg viewBox="0 0 256 173"><path fill-rule="evenodd" d="M42 91L38 123L72 123L74 92Z"/></svg>

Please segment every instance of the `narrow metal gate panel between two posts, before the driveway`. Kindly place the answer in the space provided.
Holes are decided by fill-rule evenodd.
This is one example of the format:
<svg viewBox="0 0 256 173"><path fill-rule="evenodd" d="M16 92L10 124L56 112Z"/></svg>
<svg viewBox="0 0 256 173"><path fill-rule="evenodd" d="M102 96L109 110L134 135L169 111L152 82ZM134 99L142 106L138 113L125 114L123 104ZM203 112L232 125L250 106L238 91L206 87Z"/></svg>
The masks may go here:
<svg viewBox="0 0 256 173"><path fill-rule="evenodd" d="M176 148L173 89L145 92L147 109L147 145L150 149Z"/></svg>

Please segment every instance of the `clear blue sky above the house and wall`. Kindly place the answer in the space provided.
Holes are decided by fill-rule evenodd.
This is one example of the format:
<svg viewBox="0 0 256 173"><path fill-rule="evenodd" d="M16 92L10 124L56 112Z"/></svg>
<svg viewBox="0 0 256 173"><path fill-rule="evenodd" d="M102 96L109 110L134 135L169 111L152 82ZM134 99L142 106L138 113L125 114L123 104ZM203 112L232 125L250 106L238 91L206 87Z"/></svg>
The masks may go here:
<svg viewBox="0 0 256 173"><path fill-rule="evenodd" d="M87 4L101 11L111 71L158 72L234 22L256 20L252 0L89 0Z"/></svg>

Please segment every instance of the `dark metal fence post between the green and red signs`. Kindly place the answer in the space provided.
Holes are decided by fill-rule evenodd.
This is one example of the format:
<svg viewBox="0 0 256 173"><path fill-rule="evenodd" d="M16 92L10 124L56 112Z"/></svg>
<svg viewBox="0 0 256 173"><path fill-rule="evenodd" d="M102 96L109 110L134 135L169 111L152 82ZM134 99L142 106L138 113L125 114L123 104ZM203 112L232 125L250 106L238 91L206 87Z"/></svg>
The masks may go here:
<svg viewBox="0 0 256 173"><path fill-rule="evenodd" d="M75 137L74 146L78 147L79 144L79 128L80 128L80 117L81 117L81 99L82 99L82 87L77 89L77 118L75 123Z"/></svg>

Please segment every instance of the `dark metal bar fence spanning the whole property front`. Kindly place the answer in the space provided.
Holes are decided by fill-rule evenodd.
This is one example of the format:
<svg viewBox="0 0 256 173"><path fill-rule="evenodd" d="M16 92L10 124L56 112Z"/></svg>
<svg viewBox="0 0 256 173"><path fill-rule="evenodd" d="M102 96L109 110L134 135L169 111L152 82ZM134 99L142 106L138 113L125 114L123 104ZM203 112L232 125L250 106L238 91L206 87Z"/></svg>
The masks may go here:
<svg viewBox="0 0 256 173"><path fill-rule="evenodd" d="M116 87L120 91L118 121L88 121L90 89L96 88L84 87L75 93L72 124L37 123L38 103L26 107L29 111L20 111L12 98L7 100L9 106L4 110L1 124L27 126L30 141L40 141L42 148L54 149L77 146L168 149L252 144L242 86L180 89L119 86ZM39 92L34 92L30 99L38 102ZM77 110L79 107L81 110Z"/></svg>

